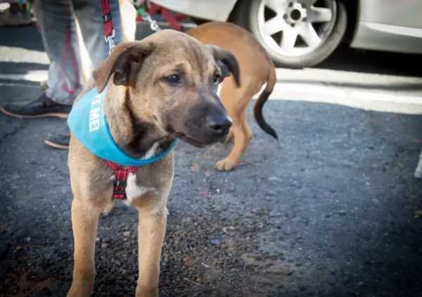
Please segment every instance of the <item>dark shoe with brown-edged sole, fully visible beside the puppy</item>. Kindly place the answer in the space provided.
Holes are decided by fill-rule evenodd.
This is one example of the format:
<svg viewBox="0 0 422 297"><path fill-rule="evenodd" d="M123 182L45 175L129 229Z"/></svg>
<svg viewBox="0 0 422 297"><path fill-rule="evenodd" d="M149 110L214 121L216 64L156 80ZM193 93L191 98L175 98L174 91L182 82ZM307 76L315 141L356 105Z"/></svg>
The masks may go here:
<svg viewBox="0 0 422 297"><path fill-rule="evenodd" d="M46 94L41 94L37 100L27 103L9 103L1 107L1 112L15 118L68 118L72 106L56 103Z"/></svg>

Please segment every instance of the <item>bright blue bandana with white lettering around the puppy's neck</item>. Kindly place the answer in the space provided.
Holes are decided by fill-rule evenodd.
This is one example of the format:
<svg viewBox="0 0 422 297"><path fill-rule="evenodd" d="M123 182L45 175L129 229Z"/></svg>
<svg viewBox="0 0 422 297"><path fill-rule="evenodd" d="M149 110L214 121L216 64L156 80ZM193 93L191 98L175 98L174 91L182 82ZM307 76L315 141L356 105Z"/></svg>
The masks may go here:
<svg viewBox="0 0 422 297"><path fill-rule="evenodd" d="M104 113L106 89L98 94L96 87L82 96L69 113L68 125L73 136L98 158L123 166L148 165L172 151L176 140L167 151L149 159L134 159L125 154L111 137Z"/></svg>

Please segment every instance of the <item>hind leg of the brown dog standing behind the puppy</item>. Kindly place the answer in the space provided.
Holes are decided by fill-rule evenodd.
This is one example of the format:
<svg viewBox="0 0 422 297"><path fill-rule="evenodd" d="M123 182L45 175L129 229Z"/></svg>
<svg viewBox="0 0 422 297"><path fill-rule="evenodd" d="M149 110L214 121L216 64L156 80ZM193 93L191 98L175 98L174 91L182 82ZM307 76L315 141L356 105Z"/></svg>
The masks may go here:
<svg viewBox="0 0 422 297"><path fill-rule="evenodd" d="M252 140L252 131L250 131L246 121L246 108L252 95L250 95L248 100L245 100L247 96L249 95L234 86L232 80L223 83L221 99L227 113L233 120L229 137L234 138L234 146L229 156L217 162L215 166L217 170L230 171L236 168ZM229 141L229 137L227 141Z"/></svg>

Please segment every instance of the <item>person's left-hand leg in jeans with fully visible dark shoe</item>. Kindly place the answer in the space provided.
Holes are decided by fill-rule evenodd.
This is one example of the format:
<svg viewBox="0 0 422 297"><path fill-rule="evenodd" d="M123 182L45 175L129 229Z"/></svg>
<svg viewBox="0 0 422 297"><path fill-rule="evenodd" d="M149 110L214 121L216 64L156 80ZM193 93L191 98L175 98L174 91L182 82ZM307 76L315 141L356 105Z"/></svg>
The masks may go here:
<svg viewBox="0 0 422 297"><path fill-rule="evenodd" d="M35 0L34 8L44 49L51 60L44 94L24 104L8 104L1 111L26 118L67 118L73 101L82 90L79 45L71 0Z"/></svg>

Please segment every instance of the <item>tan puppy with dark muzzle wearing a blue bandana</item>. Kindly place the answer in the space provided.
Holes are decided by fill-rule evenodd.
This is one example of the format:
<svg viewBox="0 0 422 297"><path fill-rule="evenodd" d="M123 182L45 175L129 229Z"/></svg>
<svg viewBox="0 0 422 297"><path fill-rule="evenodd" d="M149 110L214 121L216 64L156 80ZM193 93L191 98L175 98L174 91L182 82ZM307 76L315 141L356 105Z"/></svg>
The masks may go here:
<svg viewBox="0 0 422 297"><path fill-rule="evenodd" d="M225 139L231 120L217 96L224 65L239 81L238 63L229 51L205 46L174 30L140 42L120 43L92 73L107 87L104 113L117 146L132 158L151 158L177 137L202 147ZM76 102L75 101L75 102ZM148 157L146 157L149 155ZM75 267L68 296L93 292L98 217L113 208L113 170L73 135L68 157L75 239ZM160 255L167 222L167 196L173 180L173 153L127 177L127 203L139 210L139 279L136 296L158 296Z"/></svg>

